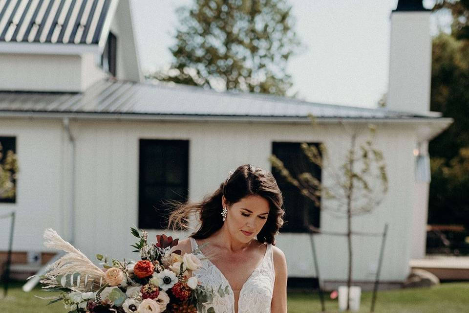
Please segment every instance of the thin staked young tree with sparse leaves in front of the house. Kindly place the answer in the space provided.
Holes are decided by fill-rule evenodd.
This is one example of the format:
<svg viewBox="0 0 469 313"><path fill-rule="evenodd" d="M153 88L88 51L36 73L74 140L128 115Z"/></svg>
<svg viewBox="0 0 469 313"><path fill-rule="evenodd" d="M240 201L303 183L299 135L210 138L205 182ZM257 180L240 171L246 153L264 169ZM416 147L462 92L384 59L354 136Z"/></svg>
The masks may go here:
<svg viewBox="0 0 469 313"><path fill-rule="evenodd" d="M313 127L318 127L312 117ZM335 233L347 238L348 267L347 267L347 299L350 298L352 285L353 264L353 235L367 235L352 229L352 218L357 215L371 213L384 199L388 189L386 164L383 152L377 149L373 143L376 126L368 125L370 138L363 140L363 126L348 126L341 123L345 129L345 136L349 138L349 148L342 157L339 166L335 166L328 157L324 144L319 148L315 145L302 143L301 148L308 160L319 166L323 175L327 176L328 183L324 183L312 175L304 172L296 177L291 174L283 162L273 155L270 157L272 166L289 183L296 186L301 194L317 205L321 210L328 211L338 218L345 218L347 228L344 233ZM347 300L347 311L350 302Z"/></svg>

